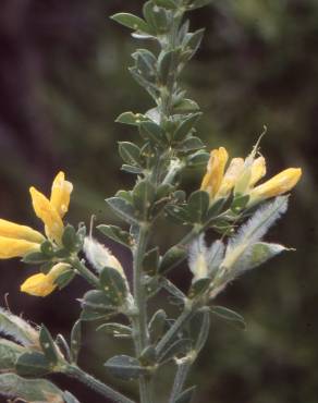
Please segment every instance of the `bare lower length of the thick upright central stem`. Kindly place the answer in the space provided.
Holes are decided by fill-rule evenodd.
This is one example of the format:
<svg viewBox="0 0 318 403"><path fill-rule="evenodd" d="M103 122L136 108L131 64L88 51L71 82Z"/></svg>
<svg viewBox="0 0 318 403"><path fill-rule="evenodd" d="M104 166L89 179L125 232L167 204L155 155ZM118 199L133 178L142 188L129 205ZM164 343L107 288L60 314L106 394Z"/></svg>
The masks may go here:
<svg viewBox="0 0 318 403"><path fill-rule="evenodd" d="M147 298L144 285L143 259L148 243L148 224L142 224L134 251L134 298L137 315L133 317L134 341L137 357L149 345L148 325L147 325ZM139 377L140 403L151 403L151 379L148 376Z"/></svg>

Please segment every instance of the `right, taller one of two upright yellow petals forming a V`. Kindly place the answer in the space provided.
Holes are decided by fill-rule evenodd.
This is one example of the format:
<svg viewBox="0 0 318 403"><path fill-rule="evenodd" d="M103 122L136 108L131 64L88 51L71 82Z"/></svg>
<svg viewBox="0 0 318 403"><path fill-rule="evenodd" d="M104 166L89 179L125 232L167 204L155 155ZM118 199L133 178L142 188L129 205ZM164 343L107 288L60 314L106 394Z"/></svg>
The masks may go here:
<svg viewBox="0 0 318 403"><path fill-rule="evenodd" d="M64 172L59 172L52 184L50 202L61 218L69 210L72 191L73 185L71 182L65 181Z"/></svg>

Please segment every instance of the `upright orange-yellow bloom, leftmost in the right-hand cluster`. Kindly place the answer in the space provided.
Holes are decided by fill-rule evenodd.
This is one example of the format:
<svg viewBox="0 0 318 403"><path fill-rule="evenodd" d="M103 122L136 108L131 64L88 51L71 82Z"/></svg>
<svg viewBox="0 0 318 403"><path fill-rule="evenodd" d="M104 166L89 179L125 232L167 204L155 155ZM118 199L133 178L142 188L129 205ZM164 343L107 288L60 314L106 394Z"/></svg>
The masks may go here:
<svg viewBox="0 0 318 403"><path fill-rule="evenodd" d="M207 173L203 179L200 188L208 192L211 198L216 196L220 188L228 158L229 155L224 147L213 149L210 152Z"/></svg>

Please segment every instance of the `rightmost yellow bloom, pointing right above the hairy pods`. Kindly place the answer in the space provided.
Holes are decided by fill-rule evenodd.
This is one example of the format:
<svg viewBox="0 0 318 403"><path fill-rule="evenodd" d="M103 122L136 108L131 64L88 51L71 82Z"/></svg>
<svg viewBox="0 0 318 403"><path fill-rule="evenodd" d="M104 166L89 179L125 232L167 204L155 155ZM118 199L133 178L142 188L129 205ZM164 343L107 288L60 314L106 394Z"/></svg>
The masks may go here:
<svg viewBox="0 0 318 403"><path fill-rule="evenodd" d="M301 168L289 168L250 192L250 203L276 197L291 191L302 176Z"/></svg>

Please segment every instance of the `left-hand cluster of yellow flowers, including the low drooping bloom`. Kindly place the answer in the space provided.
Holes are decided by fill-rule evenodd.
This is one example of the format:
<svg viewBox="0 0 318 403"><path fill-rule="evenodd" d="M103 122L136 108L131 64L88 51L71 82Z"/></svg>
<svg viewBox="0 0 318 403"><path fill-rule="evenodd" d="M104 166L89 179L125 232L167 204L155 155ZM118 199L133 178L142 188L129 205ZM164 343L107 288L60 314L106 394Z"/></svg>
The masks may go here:
<svg viewBox="0 0 318 403"><path fill-rule="evenodd" d="M29 253L38 252L46 239L61 245L64 231L62 219L69 210L72 191L73 185L65 180L63 172L59 172L54 178L49 199L35 187L30 187L33 208L45 225L46 236L29 227L1 219L0 258L24 257ZM21 291L36 296L46 296L57 288L56 279L68 268L70 268L69 265L58 262L47 274L40 272L30 276L21 285Z"/></svg>

